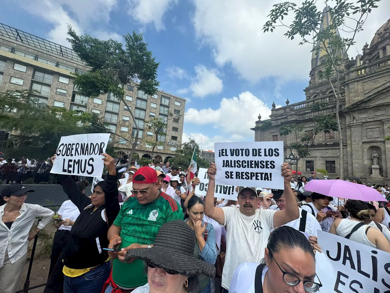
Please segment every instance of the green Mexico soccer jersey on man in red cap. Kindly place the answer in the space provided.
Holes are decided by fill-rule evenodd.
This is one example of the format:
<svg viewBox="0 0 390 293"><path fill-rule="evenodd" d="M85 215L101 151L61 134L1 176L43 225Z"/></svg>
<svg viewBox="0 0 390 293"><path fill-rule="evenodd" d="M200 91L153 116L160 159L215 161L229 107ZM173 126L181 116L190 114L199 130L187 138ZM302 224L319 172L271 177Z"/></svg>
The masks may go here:
<svg viewBox="0 0 390 293"><path fill-rule="evenodd" d="M140 204L135 197L129 197L114 221L115 226L121 227L122 243L119 249L133 243L153 244L160 227L178 219L183 220L183 209L176 200L163 192L149 204ZM114 259L112 279L122 288L135 288L147 283L140 259L130 264Z"/></svg>

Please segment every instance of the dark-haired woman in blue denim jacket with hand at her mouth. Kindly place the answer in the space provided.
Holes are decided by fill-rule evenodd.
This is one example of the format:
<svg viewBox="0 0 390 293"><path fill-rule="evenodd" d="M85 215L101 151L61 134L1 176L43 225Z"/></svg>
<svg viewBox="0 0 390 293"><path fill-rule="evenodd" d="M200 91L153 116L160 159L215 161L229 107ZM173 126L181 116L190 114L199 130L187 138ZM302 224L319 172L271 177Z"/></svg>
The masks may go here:
<svg viewBox="0 0 390 293"><path fill-rule="evenodd" d="M188 226L195 232L197 245L194 248L194 257L210 264L215 264L217 259L217 250L215 244L215 232L213 225L207 225L203 221L204 202L202 198L193 196L188 200L187 215L184 220ZM210 293L210 278L205 275L198 277L199 293Z"/></svg>

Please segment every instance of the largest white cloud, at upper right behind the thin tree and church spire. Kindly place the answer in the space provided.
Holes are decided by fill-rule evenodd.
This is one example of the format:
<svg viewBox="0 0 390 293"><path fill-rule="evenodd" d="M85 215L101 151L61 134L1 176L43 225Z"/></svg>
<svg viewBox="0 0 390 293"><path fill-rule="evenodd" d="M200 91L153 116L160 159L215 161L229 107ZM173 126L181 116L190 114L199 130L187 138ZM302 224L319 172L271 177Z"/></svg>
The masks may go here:
<svg viewBox="0 0 390 293"><path fill-rule="evenodd" d="M269 76L307 80L311 45L298 45L299 38L288 40L281 27L272 33L262 32L272 5L279 2L241 0L238 5L236 0L193 0L195 33L204 45L211 47L218 65L231 64L246 80L257 82ZM293 2L301 4L302 1ZM318 5L324 5L323 2ZM381 1L378 6L369 15L364 30L356 36L359 52L365 41L370 43L376 30L388 20L390 1ZM355 48L351 48L349 55L356 54Z"/></svg>

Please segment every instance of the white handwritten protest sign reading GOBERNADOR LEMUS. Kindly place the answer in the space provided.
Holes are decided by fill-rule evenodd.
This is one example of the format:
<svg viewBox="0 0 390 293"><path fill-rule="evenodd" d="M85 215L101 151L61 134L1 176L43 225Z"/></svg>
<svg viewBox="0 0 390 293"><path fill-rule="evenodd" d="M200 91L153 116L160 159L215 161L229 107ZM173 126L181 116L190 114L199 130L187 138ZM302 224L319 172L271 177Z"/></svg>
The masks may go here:
<svg viewBox="0 0 390 293"><path fill-rule="evenodd" d="M100 177L109 133L62 136L50 173Z"/></svg>

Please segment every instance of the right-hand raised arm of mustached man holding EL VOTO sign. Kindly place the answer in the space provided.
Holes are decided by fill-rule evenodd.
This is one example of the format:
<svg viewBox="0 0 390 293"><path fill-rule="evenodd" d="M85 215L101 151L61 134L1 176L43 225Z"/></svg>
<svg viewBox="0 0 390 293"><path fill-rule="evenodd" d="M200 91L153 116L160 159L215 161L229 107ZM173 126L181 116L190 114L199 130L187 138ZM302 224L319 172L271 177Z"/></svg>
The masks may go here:
<svg viewBox="0 0 390 293"><path fill-rule="evenodd" d="M293 177L290 165L288 163L282 164L282 176L284 177L284 196L286 200L286 208L283 211L277 211L273 216L274 227L282 226L299 218L298 204L291 189L290 180Z"/></svg>

